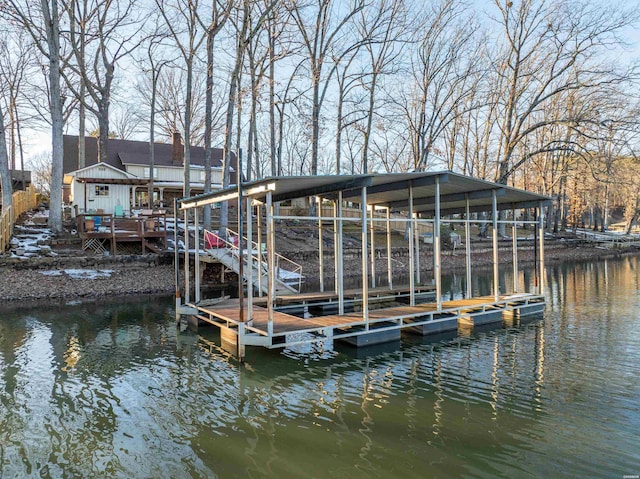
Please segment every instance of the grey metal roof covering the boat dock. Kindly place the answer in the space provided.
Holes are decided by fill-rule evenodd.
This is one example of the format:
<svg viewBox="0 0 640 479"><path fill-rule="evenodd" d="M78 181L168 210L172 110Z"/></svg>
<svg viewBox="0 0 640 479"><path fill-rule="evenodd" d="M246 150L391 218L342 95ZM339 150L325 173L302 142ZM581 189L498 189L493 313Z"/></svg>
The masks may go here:
<svg viewBox="0 0 640 479"><path fill-rule="evenodd" d="M413 192L410 195L410 186ZM271 193L274 202L308 196L336 198L342 193L345 201L359 203L362 188L367 188L368 205L392 210L408 210L410 196L417 213L433 213L439 203L441 214L462 213L469 201L470 211L488 211L492 208L493 192L499 210L530 208L550 201L548 196L491 183L451 171L390 173L351 176L272 177L242 185L243 196L264 202ZM436 200L436 190L440 195ZM237 198L236 188L225 188L215 193L193 196L181 200L181 208L204 206Z"/></svg>

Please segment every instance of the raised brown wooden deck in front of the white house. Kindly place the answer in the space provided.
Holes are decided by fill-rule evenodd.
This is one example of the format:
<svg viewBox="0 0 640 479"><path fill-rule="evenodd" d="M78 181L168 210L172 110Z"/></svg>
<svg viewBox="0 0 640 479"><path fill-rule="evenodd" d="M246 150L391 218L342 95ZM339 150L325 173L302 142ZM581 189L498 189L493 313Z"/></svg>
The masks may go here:
<svg viewBox="0 0 640 479"><path fill-rule="evenodd" d="M140 243L142 254L147 249L159 249L149 240L161 240L167 247L167 230L164 213L149 213L138 217L115 217L112 214L79 214L76 216L77 230L82 239L82 249L96 253L111 251L117 253L120 243ZM99 226L91 229L91 223L99 221Z"/></svg>

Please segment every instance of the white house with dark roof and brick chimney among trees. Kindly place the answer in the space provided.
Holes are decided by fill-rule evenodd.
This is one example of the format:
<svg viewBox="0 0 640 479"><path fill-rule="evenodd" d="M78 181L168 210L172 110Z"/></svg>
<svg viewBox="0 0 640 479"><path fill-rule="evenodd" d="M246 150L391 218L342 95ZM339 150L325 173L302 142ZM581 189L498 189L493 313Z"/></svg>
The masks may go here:
<svg viewBox="0 0 640 479"><path fill-rule="evenodd" d="M106 160L98 162L97 138L85 138L85 166L78 168L78 137L63 138L63 198L79 213L102 210L113 213L116 207L129 213L135 208L171 207L183 197L184 146L180 133L173 143L154 145L153 199L149 201L149 142L109 139ZM204 148L191 147L191 194L204 192ZM232 154L235 164L235 154ZM232 168L231 182L235 182ZM222 186L222 149L211 154L211 189Z"/></svg>

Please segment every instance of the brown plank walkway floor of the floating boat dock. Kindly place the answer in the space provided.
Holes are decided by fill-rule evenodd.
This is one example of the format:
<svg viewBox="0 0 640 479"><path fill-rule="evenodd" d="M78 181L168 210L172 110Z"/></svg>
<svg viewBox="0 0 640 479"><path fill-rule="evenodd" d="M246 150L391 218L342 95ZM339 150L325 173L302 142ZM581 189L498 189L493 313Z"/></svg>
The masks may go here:
<svg viewBox="0 0 640 479"><path fill-rule="evenodd" d="M300 295L303 298L316 298L314 295ZM469 316L486 314L488 311L512 311L527 306L529 303L544 304L544 298L533 294L518 294L501 296L495 301L493 296L483 296L472 299L445 301L438 309L436 303L424 303L415 306L393 306L370 310L368 317L363 312L316 316L309 319L300 318L282 312L273 312L272 331L269 332L269 314L266 308L253 306L253 321L244 323L249 334L254 333L270 339L283 337L292 333L315 333L317 340L326 337L339 338L356 334L366 334L370 325L389 323L389 328L402 329L415 327L418 324L464 319ZM192 305L199 311L198 318L224 328L235 328L239 323L240 304L237 299L224 301L213 306ZM247 314L245 303L244 314ZM327 334L331 330L330 334ZM310 339L308 342L313 342ZM268 347L281 347L282 342L271 342Z"/></svg>

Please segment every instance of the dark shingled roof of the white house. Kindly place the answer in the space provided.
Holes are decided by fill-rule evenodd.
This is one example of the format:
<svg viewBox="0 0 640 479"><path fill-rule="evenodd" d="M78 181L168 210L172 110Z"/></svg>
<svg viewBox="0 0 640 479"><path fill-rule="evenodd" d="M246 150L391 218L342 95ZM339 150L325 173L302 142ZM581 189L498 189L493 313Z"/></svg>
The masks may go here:
<svg viewBox="0 0 640 479"><path fill-rule="evenodd" d="M63 172L70 173L78 169L78 137L75 135L64 135L64 161ZM201 146L191 147L191 165L204 166L204 148ZM154 164L156 166L176 166L173 163L173 145L170 143L155 143ZM98 139L95 137L85 137L85 166L98 163ZM211 152L211 166L222 166L222 149L213 148ZM232 163L235 164L235 154L232 153ZM111 166L119 170L125 170L125 165L149 165L149 142L109 139L107 144L107 158L104 160ZM232 168L233 170L233 168Z"/></svg>

